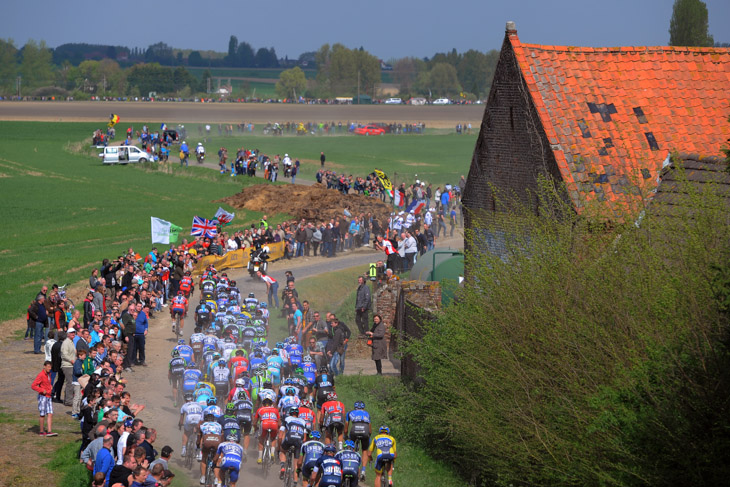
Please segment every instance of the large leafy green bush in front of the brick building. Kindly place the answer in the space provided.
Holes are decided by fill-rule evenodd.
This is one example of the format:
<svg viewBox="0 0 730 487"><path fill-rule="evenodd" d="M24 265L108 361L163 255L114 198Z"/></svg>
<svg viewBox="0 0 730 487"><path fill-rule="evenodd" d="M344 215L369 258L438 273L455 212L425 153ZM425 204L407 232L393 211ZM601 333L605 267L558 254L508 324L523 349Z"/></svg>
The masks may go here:
<svg viewBox="0 0 730 487"><path fill-rule="evenodd" d="M687 185L674 217L608 225L549 187L540 215L511 202L520 231L507 256L468 252L457 304L407 347L424 378L421 431L445 438L472 482L723 482L728 286L713 277L728 262L724 198ZM467 236L472 248L481 235Z"/></svg>

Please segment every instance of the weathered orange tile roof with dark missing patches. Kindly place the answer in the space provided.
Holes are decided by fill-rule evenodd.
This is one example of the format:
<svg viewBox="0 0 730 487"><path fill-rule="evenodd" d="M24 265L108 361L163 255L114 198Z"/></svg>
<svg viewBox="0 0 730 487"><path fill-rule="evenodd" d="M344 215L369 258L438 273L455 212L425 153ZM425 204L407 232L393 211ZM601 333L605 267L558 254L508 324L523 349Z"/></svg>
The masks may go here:
<svg viewBox="0 0 730 487"><path fill-rule="evenodd" d="M515 52L578 211L643 207L673 151L719 155L730 137L730 49L522 44Z"/></svg>

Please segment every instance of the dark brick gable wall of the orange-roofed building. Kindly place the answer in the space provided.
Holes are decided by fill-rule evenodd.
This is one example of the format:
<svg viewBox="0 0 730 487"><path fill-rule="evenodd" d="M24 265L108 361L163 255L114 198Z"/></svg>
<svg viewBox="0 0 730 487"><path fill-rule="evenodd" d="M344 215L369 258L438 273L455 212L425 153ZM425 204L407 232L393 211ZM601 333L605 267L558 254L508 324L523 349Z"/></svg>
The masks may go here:
<svg viewBox="0 0 730 487"><path fill-rule="evenodd" d="M561 180L508 36L484 109L463 199L467 237L476 237L474 242L478 242L467 238L466 248L477 245L498 255L505 252L506 229L486 230L495 223L499 227L495 214L514 204L537 212L539 176Z"/></svg>

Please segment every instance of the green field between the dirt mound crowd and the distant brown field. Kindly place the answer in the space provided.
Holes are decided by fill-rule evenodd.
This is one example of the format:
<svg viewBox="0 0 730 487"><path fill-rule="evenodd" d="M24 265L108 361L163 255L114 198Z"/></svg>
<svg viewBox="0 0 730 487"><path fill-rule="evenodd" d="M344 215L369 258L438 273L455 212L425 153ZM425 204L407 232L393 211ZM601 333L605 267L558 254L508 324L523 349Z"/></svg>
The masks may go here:
<svg viewBox="0 0 730 487"><path fill-rule="evenodd" d="M190 139L188 142L196 144L202 140L196 124L186 127ZM256 125L253 135L234 132L232 137L218 137L217 127L214 126L211 129L213 136L204 145L208 148L225 146L229 154L232 147L241 146L260 149L270 156L280 154L283 157L288 153L303 163L299 177L306 179L314 179L320 167L320 152L324 151L327 157L325 167L338 173L365 177L377 168L385 171L398 184L420 179L432 182L435 190L436 186L443 187L445 183L456 184L462 174L466 176L477 137L476 134L456 135L444 133L443 130L429 131L428 127L424 135L377 137L350 134L274 137L261 135L262 130L262 125Z"/></svg>

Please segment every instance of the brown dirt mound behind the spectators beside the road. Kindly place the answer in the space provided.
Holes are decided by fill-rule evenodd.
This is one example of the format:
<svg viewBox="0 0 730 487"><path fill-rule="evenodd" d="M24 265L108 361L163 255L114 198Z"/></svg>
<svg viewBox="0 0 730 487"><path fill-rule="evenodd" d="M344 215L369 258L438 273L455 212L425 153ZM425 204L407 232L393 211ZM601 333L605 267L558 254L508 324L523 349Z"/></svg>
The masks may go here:
<svg viewBox="0 0 730 487"><path fill-rule="evenodd" d="M349 194L327 189L322 184L302 186L298 184L257 184L243 188L238 194L219 200L234 208L260 211L270 215L287 213L297 219L324 221L341 217L344 209L350 213L372 213L381 223L388 220L391 206L370 196Z"/></svg>

